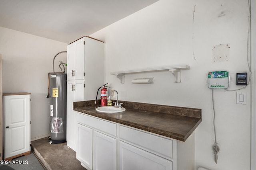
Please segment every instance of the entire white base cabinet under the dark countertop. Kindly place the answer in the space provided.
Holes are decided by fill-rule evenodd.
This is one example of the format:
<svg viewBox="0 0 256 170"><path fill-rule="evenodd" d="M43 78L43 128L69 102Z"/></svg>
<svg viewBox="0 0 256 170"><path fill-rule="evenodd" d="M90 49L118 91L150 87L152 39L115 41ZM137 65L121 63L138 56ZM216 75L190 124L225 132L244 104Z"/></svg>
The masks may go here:
<svg viewBox="0 0 256 170"><path fill-rule="evenodd" d="M76 113L77 159L88 170L194 170L186 142Z"/></svg>

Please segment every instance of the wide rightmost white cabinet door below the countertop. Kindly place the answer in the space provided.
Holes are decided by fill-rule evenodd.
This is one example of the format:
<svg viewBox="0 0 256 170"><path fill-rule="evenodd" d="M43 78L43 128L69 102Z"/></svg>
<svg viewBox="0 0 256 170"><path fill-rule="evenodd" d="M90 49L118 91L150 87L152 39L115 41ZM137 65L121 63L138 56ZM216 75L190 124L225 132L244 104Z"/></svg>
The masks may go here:
<svg viewBox="0 0 256 170"><path fill-rule="evenodd" d="M119 142L120 170L172 170L172 161Z"/></svg>

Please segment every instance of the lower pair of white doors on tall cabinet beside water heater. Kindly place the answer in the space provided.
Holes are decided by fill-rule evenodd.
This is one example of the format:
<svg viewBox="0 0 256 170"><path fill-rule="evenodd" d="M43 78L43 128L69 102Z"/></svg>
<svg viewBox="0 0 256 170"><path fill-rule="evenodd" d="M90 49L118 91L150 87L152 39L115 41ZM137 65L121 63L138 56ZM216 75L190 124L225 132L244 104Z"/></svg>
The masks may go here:
<svg viewBox="0 0 256 170"><path fill-rule="evenodd" d="M76 151L76 112L73 102L84 101L84 80L67 82L67 146Z"/></svg>

